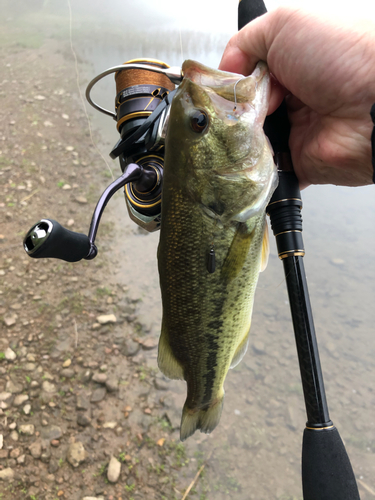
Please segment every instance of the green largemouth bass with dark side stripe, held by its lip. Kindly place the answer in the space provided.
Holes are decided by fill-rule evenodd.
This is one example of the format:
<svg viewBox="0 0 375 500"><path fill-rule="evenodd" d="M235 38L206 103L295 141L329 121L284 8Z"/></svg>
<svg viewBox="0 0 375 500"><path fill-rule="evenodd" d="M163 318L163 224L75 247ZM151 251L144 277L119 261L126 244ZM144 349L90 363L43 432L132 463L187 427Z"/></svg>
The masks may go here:
<svg viewBox="0 0 375 500"><path fill-rule="evenodd" d="M184 441L218 425L228 370L246 352L269 253L265 209L278 176L263 131L266 63L247 77L192 60L182 71L165 142L158 365L186 381Z"/></svg>

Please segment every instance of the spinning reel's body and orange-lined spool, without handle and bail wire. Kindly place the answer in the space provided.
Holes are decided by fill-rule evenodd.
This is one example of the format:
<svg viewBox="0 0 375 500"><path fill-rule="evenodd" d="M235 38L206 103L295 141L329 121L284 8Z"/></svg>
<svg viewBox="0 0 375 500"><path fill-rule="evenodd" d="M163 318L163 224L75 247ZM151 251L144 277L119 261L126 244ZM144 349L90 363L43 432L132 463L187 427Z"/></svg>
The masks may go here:
<svg viewBox="0 0 375 500"><path fill-rule="evenodd" d="M133 59L124 64L145 64L163 70L169 66L155 59ZM117 130L126 140L157 108L163 99L174 90L175 85L163 73L147 69L125 68L115 73L115 111ZM126 184L125 201L129 215L148 231L160 225L161 191L164 167L164 137L167 113L136 141L126 153L119 156L122 171L129 163L137 163L144 169L142 180ZM155 217L158 218L155 221ZM150 224L151 223L151 224Z"/></svg>

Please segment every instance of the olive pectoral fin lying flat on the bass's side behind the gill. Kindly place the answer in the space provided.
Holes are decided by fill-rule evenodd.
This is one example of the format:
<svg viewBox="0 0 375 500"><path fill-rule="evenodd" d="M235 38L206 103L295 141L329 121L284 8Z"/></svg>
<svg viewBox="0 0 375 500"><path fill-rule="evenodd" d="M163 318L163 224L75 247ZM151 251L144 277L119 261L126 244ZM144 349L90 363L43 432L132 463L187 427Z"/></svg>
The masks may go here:
<svg viewBox="0 0 375 500"><path fill-rule="evenodd" d="M221 276L224 279L231 281L241 272L254 234L255 228L251 230L246 222L238 224L223 267L221 268Z"/></svg>

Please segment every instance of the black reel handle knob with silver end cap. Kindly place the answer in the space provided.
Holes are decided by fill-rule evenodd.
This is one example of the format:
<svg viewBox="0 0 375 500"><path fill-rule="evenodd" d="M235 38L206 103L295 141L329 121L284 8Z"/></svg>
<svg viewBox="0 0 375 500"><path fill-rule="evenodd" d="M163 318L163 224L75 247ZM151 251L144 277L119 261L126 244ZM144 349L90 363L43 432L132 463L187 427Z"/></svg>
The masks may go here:
<svg viewBox="0 0 375 500"><path fill-rule="evenodd" d="M52 219L37 222L25 236L23 247L34 259L52 257L66 262L92 259L97 253L86 234L69 231Z"/></svg>

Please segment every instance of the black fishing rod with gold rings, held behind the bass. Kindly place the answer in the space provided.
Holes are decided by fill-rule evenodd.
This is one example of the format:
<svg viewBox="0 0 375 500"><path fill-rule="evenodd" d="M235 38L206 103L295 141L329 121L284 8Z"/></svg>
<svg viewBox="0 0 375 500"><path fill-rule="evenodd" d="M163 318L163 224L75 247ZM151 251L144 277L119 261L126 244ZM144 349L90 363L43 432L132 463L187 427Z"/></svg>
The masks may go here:
<svg viewBox="0 0 375 500"><path fill-rule="evenodd" d="M267 12L263 0L240 0L238 29ZM289 150L285 101L264 125L279 170L279 186L267 207L283 262L301 372L307 422L302 443L304 500L359 500L353 469L328 412L303 256L302 200Z"/></svg>

